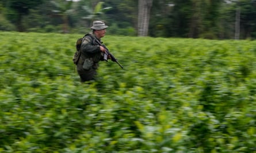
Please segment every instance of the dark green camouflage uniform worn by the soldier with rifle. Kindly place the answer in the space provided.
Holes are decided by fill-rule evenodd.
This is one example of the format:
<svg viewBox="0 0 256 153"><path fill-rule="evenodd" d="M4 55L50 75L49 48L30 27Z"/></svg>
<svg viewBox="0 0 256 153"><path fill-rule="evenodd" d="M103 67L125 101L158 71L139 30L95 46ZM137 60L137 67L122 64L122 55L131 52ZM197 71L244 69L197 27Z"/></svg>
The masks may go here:
<svg viewBox="0 0 256 153"><path fill-rule="evenodd" d="M77 64L77 72L81 78L81 82L95 80L96 70L99 66L98 62L104 60L100 46L95 45L95 39L97 38L94 34L89 33L82 40L81 57ZM101 42L101 40L99 41Z"/></svg>

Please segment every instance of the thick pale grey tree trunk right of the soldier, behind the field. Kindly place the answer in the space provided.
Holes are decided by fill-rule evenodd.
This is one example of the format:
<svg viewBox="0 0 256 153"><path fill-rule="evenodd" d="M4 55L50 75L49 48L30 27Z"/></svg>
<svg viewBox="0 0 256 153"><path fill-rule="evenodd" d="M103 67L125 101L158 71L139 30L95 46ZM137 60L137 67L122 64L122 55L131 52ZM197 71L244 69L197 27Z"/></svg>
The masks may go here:
<svg viewBox="0 0 256 153"><path fill-rule="evenodd" d="M148 25L150 23L150 9L153 0L139 0L138 14L138 36L148 35Z"/></svg>

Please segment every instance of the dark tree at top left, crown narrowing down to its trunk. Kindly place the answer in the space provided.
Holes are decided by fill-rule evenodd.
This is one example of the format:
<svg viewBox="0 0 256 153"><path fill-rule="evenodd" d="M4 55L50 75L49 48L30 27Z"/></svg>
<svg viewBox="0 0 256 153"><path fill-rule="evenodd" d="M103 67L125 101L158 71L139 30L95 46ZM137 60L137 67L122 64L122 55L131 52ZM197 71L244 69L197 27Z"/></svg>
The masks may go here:
<svg viewBox="0 0 256 153"><path fill-rule="evenodd" d="M31 0L8 0L6 2L7 7L9 8L9 15L12 14L14 23L16 24L17 30L23 32L25 29L22 25L22 18L24 15L29 14L29 9L40 5L42 0L31 1Z"/></svg>

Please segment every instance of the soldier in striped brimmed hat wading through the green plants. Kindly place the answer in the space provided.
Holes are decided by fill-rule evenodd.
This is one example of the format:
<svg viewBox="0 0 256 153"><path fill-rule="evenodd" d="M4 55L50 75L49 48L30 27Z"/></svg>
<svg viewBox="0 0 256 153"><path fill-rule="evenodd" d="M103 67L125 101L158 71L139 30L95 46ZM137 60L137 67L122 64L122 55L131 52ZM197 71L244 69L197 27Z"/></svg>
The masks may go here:
<svg viewBox="0 0 256 153"><path fill-rule="evenodd" d="M92 32L83 37L81 44L81 56L77 63L77 72L81 82L95 80L98 62L104 60L105 48L95 43L96 39L101 42L105 36L107 25L103 21L93 21Z"/></svg>

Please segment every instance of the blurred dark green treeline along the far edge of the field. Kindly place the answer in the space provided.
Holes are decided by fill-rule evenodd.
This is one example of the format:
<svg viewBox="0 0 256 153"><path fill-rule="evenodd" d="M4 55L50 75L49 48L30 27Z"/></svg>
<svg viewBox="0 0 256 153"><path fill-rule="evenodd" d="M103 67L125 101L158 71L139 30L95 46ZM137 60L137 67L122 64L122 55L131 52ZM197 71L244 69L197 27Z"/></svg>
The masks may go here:
<svg viewBox="0 0 256 153"><path fill-rule="evenodd" d="M138 1L0 1L0 30L85 33L93 19L103 19L109 34L136 36ZM254 0L154 0L148 35L254 39L255 18Z"/></svg>

